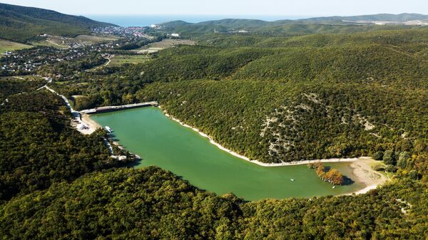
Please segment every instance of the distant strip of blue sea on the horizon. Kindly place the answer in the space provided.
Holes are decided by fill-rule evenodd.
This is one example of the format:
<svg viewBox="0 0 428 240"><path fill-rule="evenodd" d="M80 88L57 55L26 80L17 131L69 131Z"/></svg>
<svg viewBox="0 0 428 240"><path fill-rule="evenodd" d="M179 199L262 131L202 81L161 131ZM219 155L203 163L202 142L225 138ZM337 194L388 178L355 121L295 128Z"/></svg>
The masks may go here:
<svg viewBox="0 0 428 240"><path fill-rule="evenodd" d="M118 26L151 26L151 24L162 24L168 21L182 20L188 23L199 23L201 21L220 19L258 19L264 21L307 19L313 16L213 16L213 15L159 15L159 16L112 16L112 15L87 15L89 19L103 21Z"/></svg>

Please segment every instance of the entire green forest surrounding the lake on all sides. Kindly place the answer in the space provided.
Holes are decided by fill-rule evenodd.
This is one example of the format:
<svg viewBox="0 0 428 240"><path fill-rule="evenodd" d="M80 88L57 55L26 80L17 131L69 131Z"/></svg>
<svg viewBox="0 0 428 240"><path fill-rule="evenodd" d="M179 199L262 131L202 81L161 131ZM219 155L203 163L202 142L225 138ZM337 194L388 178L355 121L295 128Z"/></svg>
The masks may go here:
<svg viewBox="0 0 428 240"><path fill-rule="evenodd" d="M158 100L251 160L371 156L387 164L384 186L311 199L218 196L109 157L105 132L74 130L63 100L36 90L44 81L1 78L1 239L426 239L428 30L322 28L199 32L196 46L144 63L86 71L105 61L96 53L39 73L72 75L49 86L78 110Z"/></svg>

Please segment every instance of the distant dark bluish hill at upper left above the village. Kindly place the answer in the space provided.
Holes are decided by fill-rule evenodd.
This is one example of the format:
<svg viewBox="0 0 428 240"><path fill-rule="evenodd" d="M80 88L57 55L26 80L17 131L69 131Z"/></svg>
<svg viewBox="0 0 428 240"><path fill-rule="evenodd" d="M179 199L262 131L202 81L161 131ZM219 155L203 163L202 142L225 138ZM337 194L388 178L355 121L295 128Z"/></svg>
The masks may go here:
<svg viewBox="0 0 428 240"><path fill-rule="evenodd" d="M108 25L111 24L93 21L84 16L0 4L0 38L14 41L26 41L45 33L57 36L76 36L89 33L90 28Z"/></svg>

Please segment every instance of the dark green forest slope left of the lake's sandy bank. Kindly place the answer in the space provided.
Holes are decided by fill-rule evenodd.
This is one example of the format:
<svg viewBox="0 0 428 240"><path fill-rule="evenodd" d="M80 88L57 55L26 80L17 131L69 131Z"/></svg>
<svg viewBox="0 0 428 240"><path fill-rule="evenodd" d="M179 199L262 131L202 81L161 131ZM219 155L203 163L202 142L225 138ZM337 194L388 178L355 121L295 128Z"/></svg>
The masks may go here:
<svg viewBox="0 0 428 240"><path fill-rule="evenodd" d="M46 90L9 95L0 105L0 202L125 164L109 157L103 132L83 136L69 117L63 100Z"/></svg>

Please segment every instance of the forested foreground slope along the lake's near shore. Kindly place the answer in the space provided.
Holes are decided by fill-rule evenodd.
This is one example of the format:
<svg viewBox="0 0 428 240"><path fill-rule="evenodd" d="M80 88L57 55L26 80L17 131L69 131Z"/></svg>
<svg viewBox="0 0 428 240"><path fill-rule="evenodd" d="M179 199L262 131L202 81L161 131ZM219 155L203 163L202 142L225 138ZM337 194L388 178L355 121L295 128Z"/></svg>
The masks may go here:
<svg viewBox="0 0 428 240"><path fill-rule="evenodd" d="M11 199L4 239L424 239L425 184L370 194L243 202L158 167L96 172ZM406 199L412 207L397 202ZM402 213L404 211L404 214Z"/></svg>

